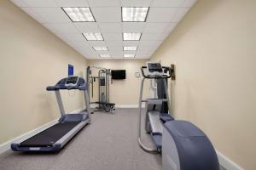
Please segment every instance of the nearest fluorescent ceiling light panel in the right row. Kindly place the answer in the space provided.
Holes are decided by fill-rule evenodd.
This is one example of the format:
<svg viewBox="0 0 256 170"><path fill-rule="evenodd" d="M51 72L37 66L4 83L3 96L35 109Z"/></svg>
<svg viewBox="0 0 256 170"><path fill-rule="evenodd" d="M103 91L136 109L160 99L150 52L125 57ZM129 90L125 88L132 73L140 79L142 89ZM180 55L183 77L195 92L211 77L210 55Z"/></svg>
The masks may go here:
<svg viewBox="0 0 256 170"><path fill-rule="evenodd" d="M123 22L145 22L148 15L148 7L123 7Z"/></svg>

